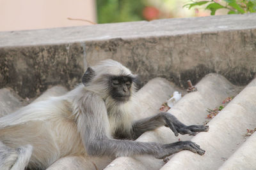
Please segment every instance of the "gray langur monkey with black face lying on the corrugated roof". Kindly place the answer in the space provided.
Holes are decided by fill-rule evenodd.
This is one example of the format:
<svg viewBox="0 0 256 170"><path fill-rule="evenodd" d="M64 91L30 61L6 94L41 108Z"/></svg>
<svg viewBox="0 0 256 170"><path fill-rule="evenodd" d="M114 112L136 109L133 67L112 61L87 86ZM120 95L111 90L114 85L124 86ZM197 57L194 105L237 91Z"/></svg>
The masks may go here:
<svg viewBox="0 0 256 170"><path fill-rule="evenodd" d="M163 125L175 136L195 135L209 127L184 125L170 113L134 121L136 76L119 62L104 60L88 67L82 81L64 96L31 103L0 118L0 169L45 169L68 155L147 154L163 159L180 150L205 153L191 141L133 141Z"/></svg>

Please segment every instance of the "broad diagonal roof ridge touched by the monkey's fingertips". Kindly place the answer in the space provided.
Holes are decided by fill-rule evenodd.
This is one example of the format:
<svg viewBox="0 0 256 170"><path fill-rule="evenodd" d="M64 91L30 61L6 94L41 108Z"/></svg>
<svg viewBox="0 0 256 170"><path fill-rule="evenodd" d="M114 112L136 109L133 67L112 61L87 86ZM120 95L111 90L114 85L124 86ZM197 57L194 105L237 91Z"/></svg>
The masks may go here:
<svg viewBox="0 0 256 170"><path fill-rule="evenodd" d="M199 133L192 139L206 150L202 157L182 151L175 154L162 170L218 169L244 143L246 129L255 128L255 96L256 78L209 122L209 132ZM249 156L250 152L247 154ZM255 153L253 157L252 164L256 164ZM249 165L244 164L246 166Z"/></svg>

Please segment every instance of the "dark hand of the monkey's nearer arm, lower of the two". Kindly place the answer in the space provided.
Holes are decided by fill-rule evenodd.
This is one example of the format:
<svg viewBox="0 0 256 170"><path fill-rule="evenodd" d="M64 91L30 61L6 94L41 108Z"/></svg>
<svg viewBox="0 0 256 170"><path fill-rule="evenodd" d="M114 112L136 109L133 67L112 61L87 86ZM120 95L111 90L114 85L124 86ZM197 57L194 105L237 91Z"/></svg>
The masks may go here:
<svg viewBox="0 0 256 170"><path fill-rule="evenodd" d="M178 141L175 143L164 144L162 146L164 152L156 155L157 159L164 159L172 155L173 153L180 152L181 150L189 150L194 153L198 153L199 155L204 155L205 151L200 148L199 145L196 145L192 141Z"/></svg>

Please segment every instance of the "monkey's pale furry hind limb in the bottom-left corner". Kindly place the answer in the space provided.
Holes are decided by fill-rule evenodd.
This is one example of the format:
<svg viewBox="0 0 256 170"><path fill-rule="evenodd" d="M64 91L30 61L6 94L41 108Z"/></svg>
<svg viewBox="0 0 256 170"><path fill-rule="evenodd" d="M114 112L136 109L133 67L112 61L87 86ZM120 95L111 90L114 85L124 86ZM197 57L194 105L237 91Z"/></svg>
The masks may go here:
<svg viewBox="0 0 256 170"><path fill-rule="evenodd" d="M20 170L28 166L33 146L25 145L17 149L9 148L0 142L0 169Z"/></svg>

